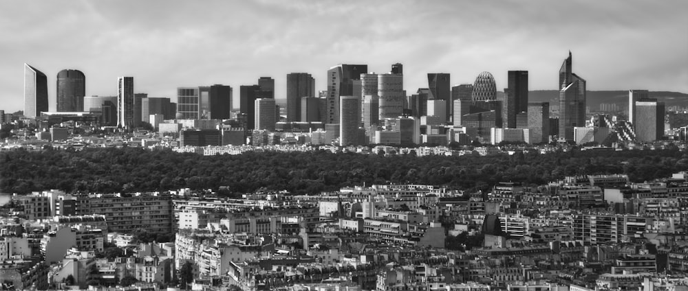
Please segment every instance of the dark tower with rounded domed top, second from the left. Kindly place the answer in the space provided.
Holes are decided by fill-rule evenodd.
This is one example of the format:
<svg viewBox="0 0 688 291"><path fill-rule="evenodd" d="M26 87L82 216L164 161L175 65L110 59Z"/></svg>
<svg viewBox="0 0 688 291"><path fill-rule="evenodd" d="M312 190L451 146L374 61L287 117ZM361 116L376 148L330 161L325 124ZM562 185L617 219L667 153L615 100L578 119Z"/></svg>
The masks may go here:
<svg viewBox="0 0 688 291"><path fill-rule="evenodd" d="M86 76L78 70L62 70L57 73L57 111L81 110L86 95Z"/></svg>

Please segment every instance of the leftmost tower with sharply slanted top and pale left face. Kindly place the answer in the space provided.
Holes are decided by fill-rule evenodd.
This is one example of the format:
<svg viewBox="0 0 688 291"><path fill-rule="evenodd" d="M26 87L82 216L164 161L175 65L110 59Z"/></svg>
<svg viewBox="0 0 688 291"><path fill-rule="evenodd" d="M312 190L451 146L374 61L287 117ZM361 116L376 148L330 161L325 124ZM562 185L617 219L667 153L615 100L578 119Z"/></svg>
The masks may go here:
<svg viewBox="0 0 688 291"><path fill-rule="evenodd" d="M39 117L47 112L47 77L41 71L24 64L24 116Z"/></svg>

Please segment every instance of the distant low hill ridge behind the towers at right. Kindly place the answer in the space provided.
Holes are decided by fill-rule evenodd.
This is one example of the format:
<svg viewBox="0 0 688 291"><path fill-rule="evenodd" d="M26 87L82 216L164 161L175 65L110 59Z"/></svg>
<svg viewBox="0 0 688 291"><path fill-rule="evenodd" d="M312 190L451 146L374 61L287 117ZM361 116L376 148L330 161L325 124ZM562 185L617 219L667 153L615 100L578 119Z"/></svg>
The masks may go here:
<svg viewBox="0 0 688 291"><path fill-rule="evenodd" d="M664 102L666 106L688 106L688 94L668 91L649 91L648 97ZM528 92L528 102L550 102L559 105L559 91L537 90ZM591 110L599 109L600 104L619 104L621 108L628 107L628 91L588 91L585 97L586 106Z"/></svg>

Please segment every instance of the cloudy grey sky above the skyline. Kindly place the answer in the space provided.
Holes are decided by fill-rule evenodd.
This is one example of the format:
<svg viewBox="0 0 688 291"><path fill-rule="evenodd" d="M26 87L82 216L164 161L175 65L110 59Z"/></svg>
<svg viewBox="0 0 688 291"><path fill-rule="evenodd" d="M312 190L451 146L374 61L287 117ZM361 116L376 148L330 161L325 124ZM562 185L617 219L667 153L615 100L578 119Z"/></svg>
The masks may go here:
<svg viewBox="0 0 688 291"><path fill-rule="evenodd" d="M427 73L473 83L482 71L506 87L508 70L529 71L530 90L556 90L561 62L588 90L688 93L688 1L0 1L0 109L23 110L23 63L47 75L78 69L87 95L134 91L176 100L178 86L257 84L327 69L404 65L408 94Z"/></svg>

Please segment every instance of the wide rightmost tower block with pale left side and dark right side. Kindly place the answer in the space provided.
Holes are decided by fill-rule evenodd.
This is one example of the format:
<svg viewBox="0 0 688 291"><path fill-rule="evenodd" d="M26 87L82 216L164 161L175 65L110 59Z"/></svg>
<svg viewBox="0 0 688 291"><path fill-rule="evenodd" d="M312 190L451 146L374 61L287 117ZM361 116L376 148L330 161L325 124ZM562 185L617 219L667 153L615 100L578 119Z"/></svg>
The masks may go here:
<svg viewBox="0 0 688 291"><path fill-rule="evenodd" d="M665 111L664 102L657 102L656 99L636 101L634 110L636 123L633 126L638 141L649 142L662 139Z"/></svg>

